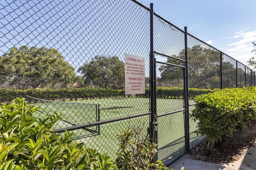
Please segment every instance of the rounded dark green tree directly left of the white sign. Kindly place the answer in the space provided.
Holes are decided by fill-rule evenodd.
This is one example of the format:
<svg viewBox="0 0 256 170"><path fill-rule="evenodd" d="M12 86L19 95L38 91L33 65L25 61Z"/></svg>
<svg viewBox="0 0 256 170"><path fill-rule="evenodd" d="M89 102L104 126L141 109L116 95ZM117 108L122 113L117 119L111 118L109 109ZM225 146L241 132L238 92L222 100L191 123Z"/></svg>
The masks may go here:
<svg viewBox="0 0 256 170"><path fill-rule="evenodd" d="M78 71L86 79L85 85L114 89L124 87L124 63L117 56L96 55L92 61L85 63Z"/></svg>

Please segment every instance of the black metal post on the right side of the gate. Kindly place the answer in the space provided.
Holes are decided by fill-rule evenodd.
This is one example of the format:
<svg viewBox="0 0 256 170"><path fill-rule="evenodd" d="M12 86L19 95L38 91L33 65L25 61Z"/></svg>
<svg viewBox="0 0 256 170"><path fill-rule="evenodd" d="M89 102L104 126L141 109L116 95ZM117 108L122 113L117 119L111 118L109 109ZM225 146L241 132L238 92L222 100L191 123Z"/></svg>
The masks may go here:
<svg viewBox="0 0 256 170"><path fill-rule="evenodd" d="M184 85L185 85L185 91L184 91L184 109L185 109L185 147L186 147L186 153L190 152L190 143L189 143L189 112L188 112L188 32L187 27L184 28L184 35L185 35L185 72L184 72Z"/></svg>

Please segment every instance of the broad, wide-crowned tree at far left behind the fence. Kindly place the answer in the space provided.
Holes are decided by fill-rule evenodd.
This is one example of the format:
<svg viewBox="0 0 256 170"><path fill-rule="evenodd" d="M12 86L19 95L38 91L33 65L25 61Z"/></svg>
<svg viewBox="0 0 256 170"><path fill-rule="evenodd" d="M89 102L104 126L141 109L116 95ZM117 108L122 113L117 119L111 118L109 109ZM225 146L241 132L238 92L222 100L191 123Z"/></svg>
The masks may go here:
<svg viewBox="0 0 256 170"><path fill-rule="evenodd" d="M42 87L49 81L66 86L75 75L74 67L64 61L64 57L54 48L13 47L0 57L0 76L6 77L5 80L8 77L26 77L25 84L34 88Z"/></svg>

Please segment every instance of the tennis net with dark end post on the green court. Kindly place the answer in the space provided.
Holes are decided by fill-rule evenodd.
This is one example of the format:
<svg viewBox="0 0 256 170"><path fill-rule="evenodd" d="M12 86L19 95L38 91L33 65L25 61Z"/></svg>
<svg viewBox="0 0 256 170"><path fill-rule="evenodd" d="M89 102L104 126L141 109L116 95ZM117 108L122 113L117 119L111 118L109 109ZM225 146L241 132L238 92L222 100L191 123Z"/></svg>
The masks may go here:
<svg viewBox="0 0 256 170"><path fill-rule="evenodd" d="M40 107L41 114L37 115L36 118L52 115L53 112L62 114L61 121L56 123L54 129L100 121L100 105L98 104L83 103L82 101L79 103L77 101L51 101L28 95L26 95L25 99L31 105ZM100 125L84 128L84 130L87 131L86 134L88 135L100 134Z"/></svg>

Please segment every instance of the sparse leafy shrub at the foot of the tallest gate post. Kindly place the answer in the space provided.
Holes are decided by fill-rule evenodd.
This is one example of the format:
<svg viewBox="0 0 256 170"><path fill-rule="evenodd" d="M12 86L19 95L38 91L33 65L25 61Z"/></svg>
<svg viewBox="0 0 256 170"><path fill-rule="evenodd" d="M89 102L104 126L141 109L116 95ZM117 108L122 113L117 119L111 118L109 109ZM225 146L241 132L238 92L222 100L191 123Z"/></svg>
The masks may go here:
<svg viewBox="0 0 256 170"><path fill-rule="evenodd" d="M144 136L140 128L122 130L118 135L119 150L116 165L120 170L168 170L161 160L154 161L157 145Z"/></svg>

